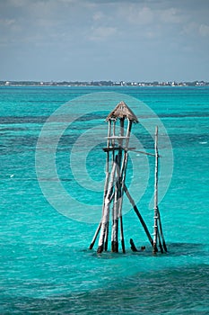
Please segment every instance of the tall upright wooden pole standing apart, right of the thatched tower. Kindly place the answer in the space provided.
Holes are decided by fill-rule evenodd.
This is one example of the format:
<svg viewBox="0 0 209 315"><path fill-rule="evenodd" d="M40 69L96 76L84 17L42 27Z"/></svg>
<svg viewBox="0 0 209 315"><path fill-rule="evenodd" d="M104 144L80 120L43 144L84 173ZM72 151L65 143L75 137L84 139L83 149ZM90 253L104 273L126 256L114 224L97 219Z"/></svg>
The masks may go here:
<svg viewBox="0 0 209 315"><path fill-rule="evenodd" d="M153 225L153 254L158 251L157 242L158 242L158 126L155 129L155 140L154 140L154 152L155 152L155 168L154 168L154 225Z"/></svg>

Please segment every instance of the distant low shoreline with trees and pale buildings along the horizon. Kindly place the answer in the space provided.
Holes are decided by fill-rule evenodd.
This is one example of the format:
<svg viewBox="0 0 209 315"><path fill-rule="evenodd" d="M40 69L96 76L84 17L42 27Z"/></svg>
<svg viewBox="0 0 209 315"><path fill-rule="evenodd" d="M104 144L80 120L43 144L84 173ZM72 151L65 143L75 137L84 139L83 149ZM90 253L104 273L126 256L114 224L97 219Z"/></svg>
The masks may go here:
<svg viewBox="0 0 209 315"><path fill-rule="evenodd" d="M0 86L209 86L209 82L125 82L125 81L0 81Z"/></svg>

